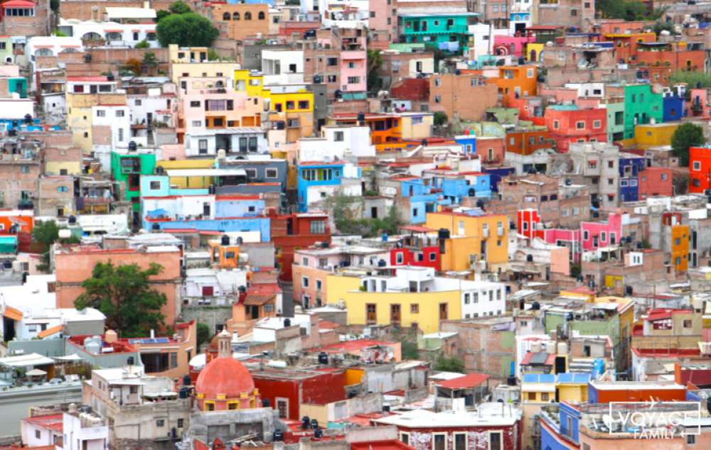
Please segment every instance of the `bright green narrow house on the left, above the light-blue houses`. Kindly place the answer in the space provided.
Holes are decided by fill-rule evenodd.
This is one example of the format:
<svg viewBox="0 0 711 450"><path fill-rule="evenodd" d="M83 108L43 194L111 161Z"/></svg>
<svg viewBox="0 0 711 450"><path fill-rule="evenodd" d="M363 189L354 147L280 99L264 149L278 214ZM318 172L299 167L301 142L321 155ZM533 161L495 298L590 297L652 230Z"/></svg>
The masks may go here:
<svg viewBox="0 0 711 450"><path fill-rule="evenodd" d="M111 153L111 173L124 185L124 200L131 202L135 213L141 212L141 175L153 175L156 170L154 153Z"/></svg>

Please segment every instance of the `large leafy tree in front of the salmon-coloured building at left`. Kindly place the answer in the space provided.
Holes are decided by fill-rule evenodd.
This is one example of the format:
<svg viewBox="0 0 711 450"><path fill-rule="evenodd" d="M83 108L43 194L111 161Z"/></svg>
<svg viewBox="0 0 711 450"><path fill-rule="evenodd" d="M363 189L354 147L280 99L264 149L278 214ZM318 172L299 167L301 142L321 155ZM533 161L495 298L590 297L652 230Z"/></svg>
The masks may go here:
<svg viewBox="0 0 711 450"><path fill-rule="evenodd" d="M157 263L146 270L137 264L97 263L92 277L82 282L84 293L74 306L100 310L106 316L106 326L121 336L148 336L151 329L165 326L161 307L166 304L166 296L149 286L149 278L162 271L163 266Z"/></svg>

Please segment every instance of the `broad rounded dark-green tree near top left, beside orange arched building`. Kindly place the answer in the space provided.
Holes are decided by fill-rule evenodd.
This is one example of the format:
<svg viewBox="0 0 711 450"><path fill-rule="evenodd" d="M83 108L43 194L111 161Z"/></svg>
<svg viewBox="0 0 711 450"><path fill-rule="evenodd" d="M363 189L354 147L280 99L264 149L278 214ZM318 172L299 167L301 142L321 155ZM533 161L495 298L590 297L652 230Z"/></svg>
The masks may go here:
<svg viewBox="0 0 711 450"><path fill-rule="evenodd" d="M164 47L210 47L220 31L203 16L196 13L171 14L156 26L158 40Z"/></svg>

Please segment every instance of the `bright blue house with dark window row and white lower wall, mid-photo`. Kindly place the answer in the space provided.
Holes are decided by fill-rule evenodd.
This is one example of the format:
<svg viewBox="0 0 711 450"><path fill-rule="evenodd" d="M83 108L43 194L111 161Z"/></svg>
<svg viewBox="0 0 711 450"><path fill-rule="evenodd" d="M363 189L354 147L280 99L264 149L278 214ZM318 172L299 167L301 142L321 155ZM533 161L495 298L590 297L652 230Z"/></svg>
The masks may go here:
<svg viewBox="0 0 711 450"><path fill-rule="evenodd" d="M296 190L299 212L308 212L309 203L326 197L343 180L343 163L299 163L296 165ZM360 168L358 168L360 177ZM326 189L320 189L326 188Z"/></svg>

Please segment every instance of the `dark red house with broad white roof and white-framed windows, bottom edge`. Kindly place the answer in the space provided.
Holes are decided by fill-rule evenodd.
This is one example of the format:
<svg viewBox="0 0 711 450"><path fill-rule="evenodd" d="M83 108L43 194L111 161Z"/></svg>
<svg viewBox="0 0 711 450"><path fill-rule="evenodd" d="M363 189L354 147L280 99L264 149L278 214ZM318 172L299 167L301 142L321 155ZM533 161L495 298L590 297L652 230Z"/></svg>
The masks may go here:
<svg viewBox="0 0 711 450"><path fill-rule="evenodd" d="M512 404L482 403L479 412L411 410L373 419L394 425L400 440L416 450L520 450L522 412Z"/></svg>

